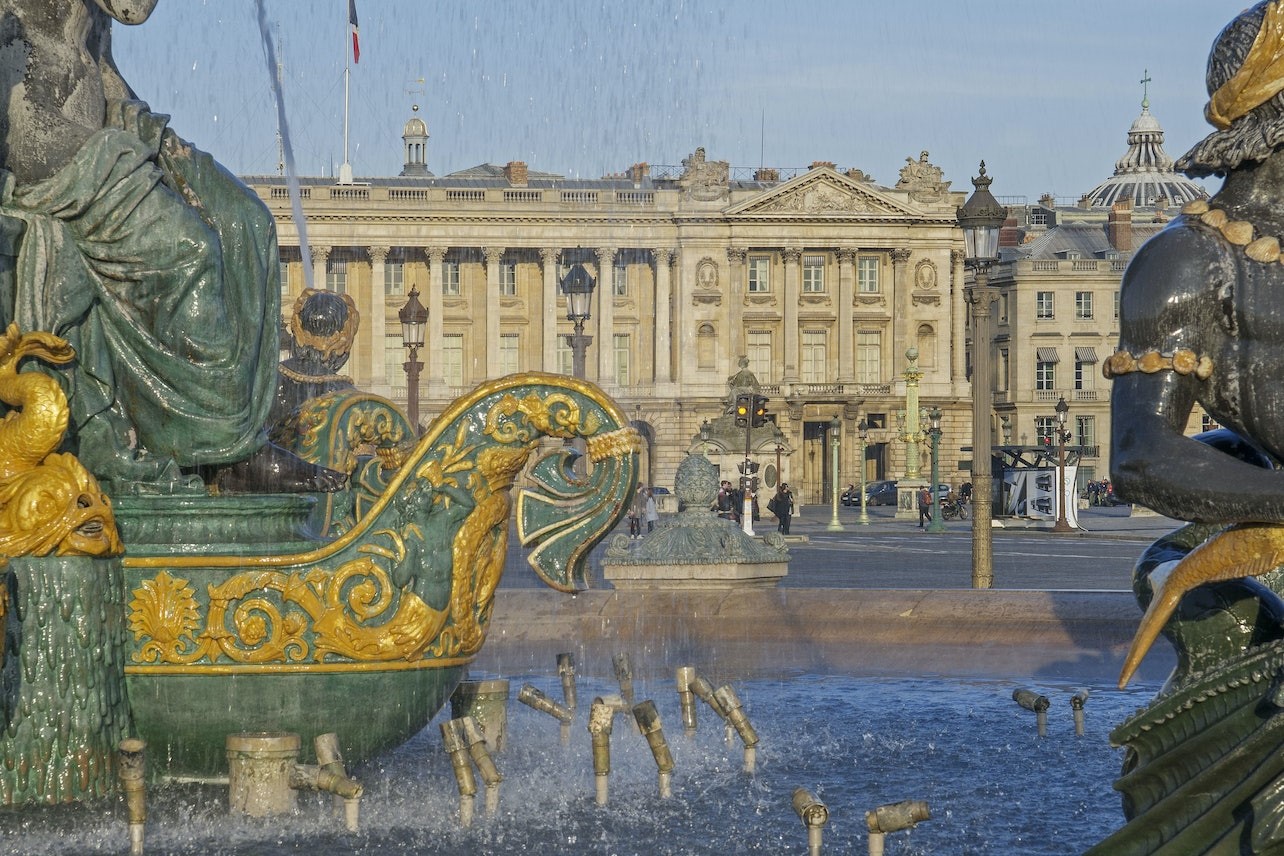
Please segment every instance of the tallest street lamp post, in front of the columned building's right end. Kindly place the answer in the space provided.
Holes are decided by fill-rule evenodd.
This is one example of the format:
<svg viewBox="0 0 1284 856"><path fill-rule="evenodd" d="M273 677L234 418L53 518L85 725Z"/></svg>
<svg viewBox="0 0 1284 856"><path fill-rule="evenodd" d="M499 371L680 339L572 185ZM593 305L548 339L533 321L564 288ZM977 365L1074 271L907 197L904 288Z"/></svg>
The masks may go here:
<svg viewBox="0 0 1284 856"><path fill-rule="evenodd" d="M990 429L990 309L998 294L990 287L990 266L999 261L999 228L1008 209L990 194L993 180L981 175L972 180L976 190L958 209L963 230L963 264L972 268L972 285L964 290L972 307L972 588L994 586L994 486L991 479Z"/></svg>

